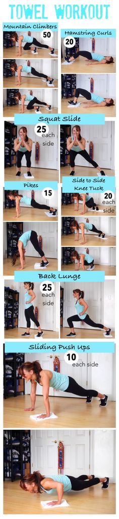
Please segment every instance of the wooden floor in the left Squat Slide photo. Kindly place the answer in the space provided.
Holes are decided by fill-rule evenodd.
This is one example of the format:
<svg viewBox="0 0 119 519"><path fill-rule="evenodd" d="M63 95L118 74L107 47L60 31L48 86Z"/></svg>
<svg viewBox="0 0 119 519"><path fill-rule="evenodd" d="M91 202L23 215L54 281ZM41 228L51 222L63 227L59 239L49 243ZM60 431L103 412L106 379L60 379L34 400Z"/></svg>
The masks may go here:
<svg viewBox="0 0 119 519"><path fill-rule="evenodd" d="M21 168L21 176L16 176L18 168L12 166L11 168L5 168L5 181L6 182L26 182L27 179L24 177L24 173L27 173L27 168L24 166ZM58 182L58 170L57 169L43 169L43 168L31 168L31 174L34 179L31 181L57 181ZM28 179L29 181L30 179Z"/></svg>

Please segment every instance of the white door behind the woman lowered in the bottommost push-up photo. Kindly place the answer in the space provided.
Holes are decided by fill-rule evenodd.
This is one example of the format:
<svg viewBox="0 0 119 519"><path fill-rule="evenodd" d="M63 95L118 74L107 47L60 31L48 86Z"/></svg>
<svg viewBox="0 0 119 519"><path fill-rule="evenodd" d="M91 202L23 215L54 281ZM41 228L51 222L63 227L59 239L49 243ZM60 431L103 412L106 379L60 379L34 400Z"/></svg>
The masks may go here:
<svg viewBox="0 0 119 519"><path fill-rule="evenodd" d="M90 471L89 430L33 430L31 438L32 471L58 474L58 443L64 444L64 474L78 477ZM55 443L56 442L56 443Z"/></svg>

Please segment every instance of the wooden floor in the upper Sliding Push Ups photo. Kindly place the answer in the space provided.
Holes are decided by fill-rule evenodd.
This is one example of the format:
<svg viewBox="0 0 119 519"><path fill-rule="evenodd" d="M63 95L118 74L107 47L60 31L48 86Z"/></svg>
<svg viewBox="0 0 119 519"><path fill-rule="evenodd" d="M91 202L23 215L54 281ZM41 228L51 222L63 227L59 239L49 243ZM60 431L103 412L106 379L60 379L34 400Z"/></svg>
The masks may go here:
<svg viewBox="0 0 119 519"><path fill-rule="evenodd" d="M101 389L103 384L101 383ZM30 405L29 395L9 397L4 400L4 428L21 429L66 429L66 428L112 428L115 427L115 402L108 401L105 409L99 406L95 398L88 405L85 399L50 397L51 411L58 416L52 420L36 422L30 415L45 413L43 397L36 397L34 412L24 411Z"/></svg>

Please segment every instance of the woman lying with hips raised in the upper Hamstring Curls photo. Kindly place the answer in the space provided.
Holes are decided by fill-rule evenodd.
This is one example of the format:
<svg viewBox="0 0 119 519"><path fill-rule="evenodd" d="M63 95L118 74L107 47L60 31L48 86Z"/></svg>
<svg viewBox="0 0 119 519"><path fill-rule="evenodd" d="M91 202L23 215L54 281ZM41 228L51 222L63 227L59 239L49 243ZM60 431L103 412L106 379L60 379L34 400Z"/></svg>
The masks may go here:
<svg viewBox="0 0 119 519"><path fill-rule="evenodd" d="M70 63L70 61L75 61L77 58L79 58L79 56L83 56L83 58L86 58L88 61L90 61L90 63L88 62L86 63L86 65L91 65L92 60L93 64L96 63L96 65L99 63L101 65L105 65L105 63L114 63L112 56L102 56L102 54L97 54L96 52L88 52L86 50L79 50L79 52L73 54L73 56L70 56L70 58L66 56L65 61Z"/></svg>

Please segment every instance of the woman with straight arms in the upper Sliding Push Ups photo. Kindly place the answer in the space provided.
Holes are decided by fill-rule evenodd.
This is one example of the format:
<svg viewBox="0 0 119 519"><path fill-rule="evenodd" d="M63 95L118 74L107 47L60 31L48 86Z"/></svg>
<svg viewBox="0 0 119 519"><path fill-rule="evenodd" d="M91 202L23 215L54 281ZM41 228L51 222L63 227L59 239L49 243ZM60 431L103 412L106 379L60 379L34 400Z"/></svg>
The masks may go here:
<svg viewBox="0 0 119 519"><path fill-rule="evenodd" d="M44 407L46 408L46 414L40 415L40 418L49 418L50 416L50 402L49 402L49 388L58 389L67 393L78 395L78 397L86 397L86 403L91 403L92 398L100 399L100 406L105 407L107 405L108 396L106 394L98 393L93 389L84 389L76 380L62 373L56 371L42 370L38 361L24 362L22 366L18 368L18 373L22 376L26 382L31 381L31 407L25 409L25 411L34 411L36 402L36 388L37 383L42 386Z"/></svg>

